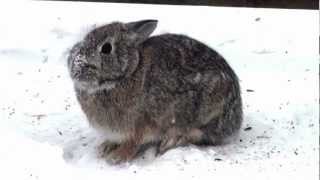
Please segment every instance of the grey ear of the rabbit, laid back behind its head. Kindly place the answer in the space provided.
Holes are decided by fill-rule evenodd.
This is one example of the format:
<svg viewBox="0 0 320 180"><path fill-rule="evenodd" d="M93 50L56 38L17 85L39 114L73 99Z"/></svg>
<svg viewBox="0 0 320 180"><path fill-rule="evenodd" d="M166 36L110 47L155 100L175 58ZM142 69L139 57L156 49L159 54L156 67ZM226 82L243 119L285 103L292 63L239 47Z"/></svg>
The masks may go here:
<svg viewBox="0 0 320 180"><path fill-rule="evenodd" d="M142 20L130 22L126 25L129 30L137 33L140 38L147 39L150 34L156 29L157 23L157 20Z"/></svg>

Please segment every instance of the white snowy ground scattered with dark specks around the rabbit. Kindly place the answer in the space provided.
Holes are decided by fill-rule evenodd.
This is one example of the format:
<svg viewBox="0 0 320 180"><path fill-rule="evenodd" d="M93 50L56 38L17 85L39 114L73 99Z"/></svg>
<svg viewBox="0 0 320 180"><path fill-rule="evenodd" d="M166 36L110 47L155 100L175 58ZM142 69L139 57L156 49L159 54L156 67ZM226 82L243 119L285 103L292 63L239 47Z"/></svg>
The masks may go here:
<svg viewBox="0 0 320 180"><path fill-rule="evenodd" d="M240 137L120 166L76 102L68 48L94 24L155 18L220 52L241 79ZM1 179L318 179L318 12L33 2L0 8Z"/></svg>

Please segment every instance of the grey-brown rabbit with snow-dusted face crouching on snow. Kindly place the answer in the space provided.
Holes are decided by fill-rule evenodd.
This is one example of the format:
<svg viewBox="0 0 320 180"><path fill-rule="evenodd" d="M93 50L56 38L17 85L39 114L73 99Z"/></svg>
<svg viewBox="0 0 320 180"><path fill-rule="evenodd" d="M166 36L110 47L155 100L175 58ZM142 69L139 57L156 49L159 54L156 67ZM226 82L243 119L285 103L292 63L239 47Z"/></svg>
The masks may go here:
<svg viewBox="0 0 320 180"><path fill-rule="evenodd" d="M89 124L105 135L108 163L194 145L221 145L242 123L239 80L226 60L179 34L150 36L157 20L112 22L90 31L67 64Z"/></svg>

